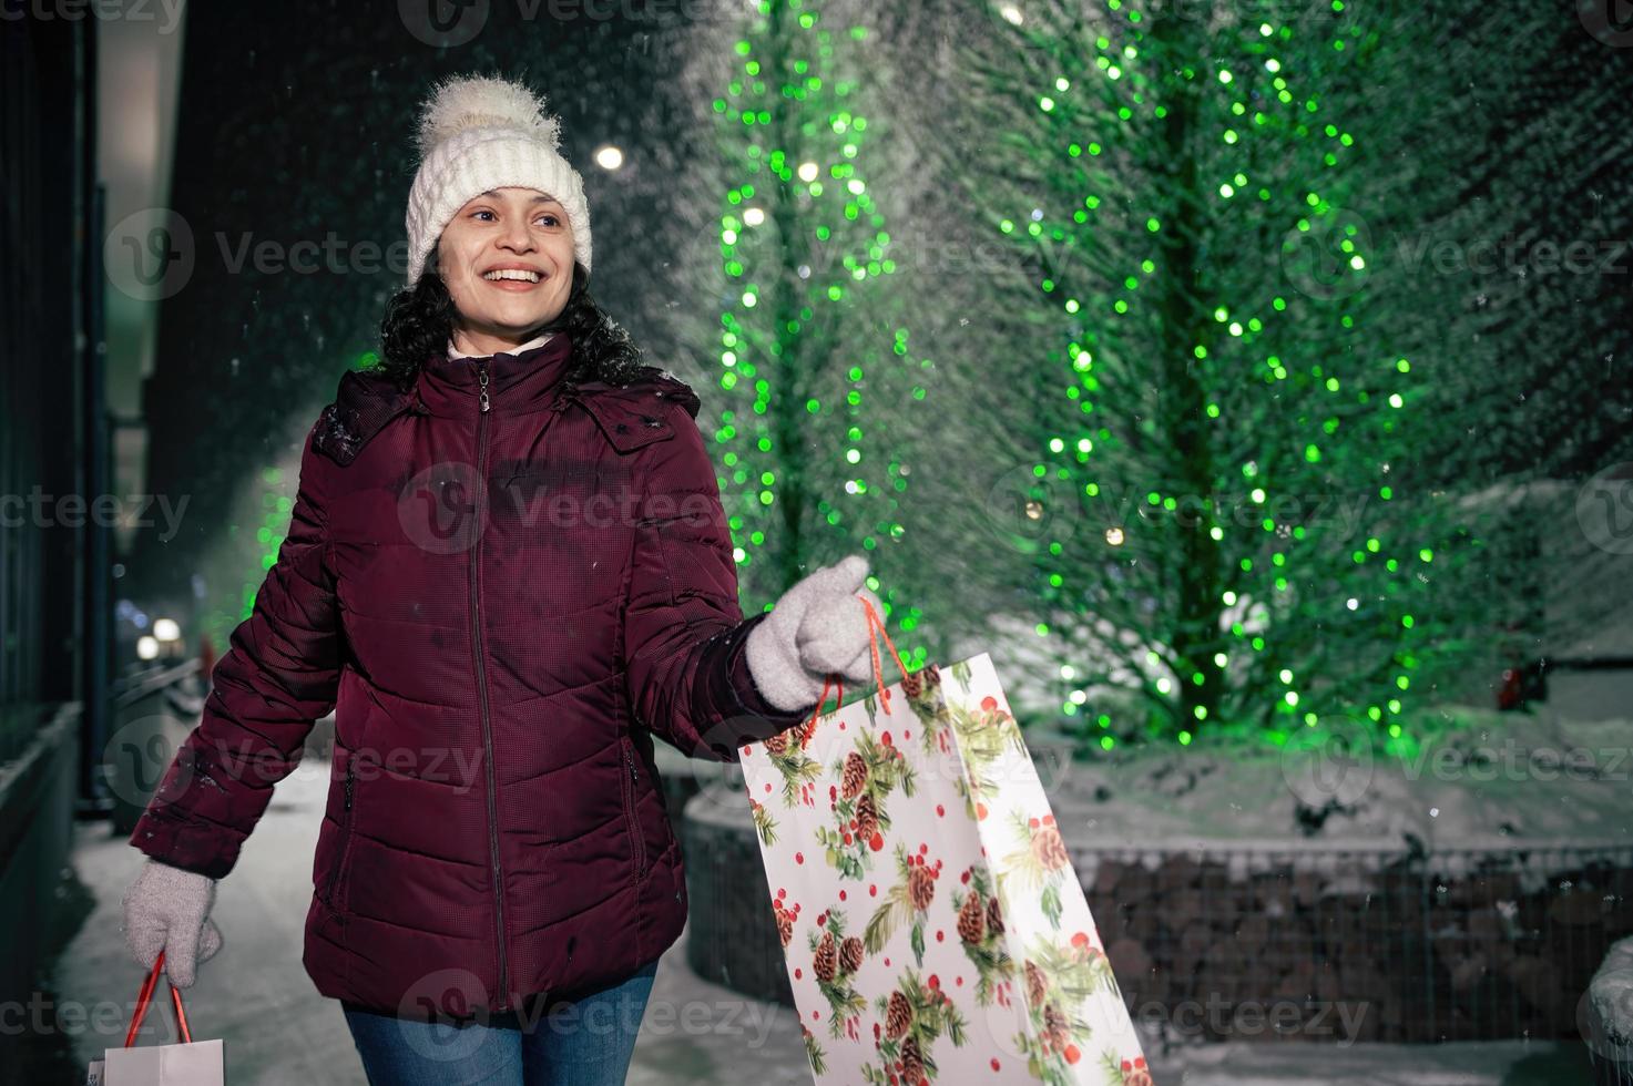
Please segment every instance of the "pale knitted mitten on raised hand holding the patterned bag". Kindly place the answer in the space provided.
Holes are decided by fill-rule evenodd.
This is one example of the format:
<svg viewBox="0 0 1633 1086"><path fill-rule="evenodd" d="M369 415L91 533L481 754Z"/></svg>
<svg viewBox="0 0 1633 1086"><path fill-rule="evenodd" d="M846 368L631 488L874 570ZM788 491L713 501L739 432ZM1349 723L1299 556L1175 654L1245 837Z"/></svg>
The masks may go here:
<svg viewBox="0 0 1633 1086"><path fill-rule="evenodd" d="M874 678L865 598L879 621L885 608L870 590L867 555L825 565L782 593L771 614L753 629L743 652L754 686L777 709L810 709L821 697L823 678L838 673L846 683Z"/></svg>

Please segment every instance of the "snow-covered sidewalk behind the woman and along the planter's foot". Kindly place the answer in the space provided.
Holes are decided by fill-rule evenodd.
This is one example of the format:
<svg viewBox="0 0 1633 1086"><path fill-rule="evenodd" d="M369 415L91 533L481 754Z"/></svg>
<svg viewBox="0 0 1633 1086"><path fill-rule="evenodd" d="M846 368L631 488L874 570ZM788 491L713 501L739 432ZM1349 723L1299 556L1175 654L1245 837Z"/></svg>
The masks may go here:
<svg viewBox="0 0 1633 1086"><path fill-rule="evenodd" d="M340 1004L318 996L300 967L312 893L312 849L327 763L307 759L278 786L266 817L217 888L220 954L186 995L199 1039L220 1037L232 1086L363 1086L363 1065ZM83 1063L124 1039L140 970L126 957L119 897L144 857L105 823L75 828L73 866L96 900L54 973L57 1006L77 1006L72 1045ZM616 932L609 932L616 937ZM712 1083L794 1086L812 1075L792 1009L697 978L686 936L665 954L642 1021L632 1086ZM147 1044L170 1039L170 1008ZM1156 1053L1153 1053L1156 1057ZM1522 1042L1440 1047L1302 1044L1210 1045L1151 1060L1163 1086L1568 1086L1586 1083L1581 1045ZM937 1083L937 1086L965 1086Z"/></svg>

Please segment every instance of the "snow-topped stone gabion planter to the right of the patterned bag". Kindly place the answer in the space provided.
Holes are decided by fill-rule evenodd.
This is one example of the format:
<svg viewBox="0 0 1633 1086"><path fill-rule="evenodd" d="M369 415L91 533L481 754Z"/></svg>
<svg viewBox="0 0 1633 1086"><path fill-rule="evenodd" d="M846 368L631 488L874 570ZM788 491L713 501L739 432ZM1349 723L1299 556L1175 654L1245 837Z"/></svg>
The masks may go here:
<svg viewBox="0 0 1633 1086"><path fill-rule="evenodd" d="M1065 764L1050 797L1135 1022L1168 1042L1568 1039L1633 934L1630 733L1146 750Z"/></svg>

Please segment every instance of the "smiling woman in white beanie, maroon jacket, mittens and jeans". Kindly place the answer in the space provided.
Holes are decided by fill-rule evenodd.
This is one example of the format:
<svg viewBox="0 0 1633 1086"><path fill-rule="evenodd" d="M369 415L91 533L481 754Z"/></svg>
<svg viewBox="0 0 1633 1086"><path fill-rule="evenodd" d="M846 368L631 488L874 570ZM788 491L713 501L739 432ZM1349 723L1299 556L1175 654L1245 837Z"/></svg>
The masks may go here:
<svg viewBox="0 0 1633 1086"><path fill-rule="evenodd" d="M686 921L653 735L735 761L825 676L870 676L861 555L743 619L699 400L590 299L557 145L524 87L431 96L384 361L307 434L278 562L131 836L131 952L188 986L216 880L338 707L304 965L371 1083L622 1083Z"/></svg>

